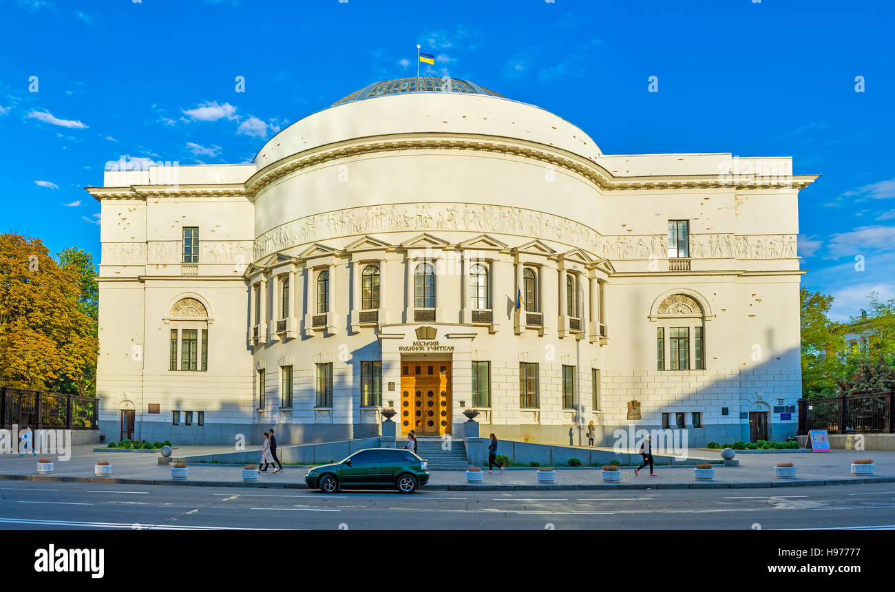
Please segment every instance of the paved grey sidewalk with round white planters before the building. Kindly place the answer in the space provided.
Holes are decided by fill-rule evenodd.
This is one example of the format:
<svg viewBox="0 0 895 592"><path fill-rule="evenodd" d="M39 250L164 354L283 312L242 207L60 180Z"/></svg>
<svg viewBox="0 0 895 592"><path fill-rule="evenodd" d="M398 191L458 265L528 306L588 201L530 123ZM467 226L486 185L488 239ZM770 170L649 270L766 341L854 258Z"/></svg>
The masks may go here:
<svg viewBox="0 0 895 592"><path fill-rule="evenodd" d="M32 481L82 481L108 484L145 484L180 486L253 486L304 488L307 467L288 465L282 473L260 473L258 481L246 482L240 466L189 464L189 478L172 479L169 466L158 465L158 455L149 453L93 452L93 446L75 446L69 461L54 458L54 472L38 475L38 456L20 457L17 454L0 455L0 479L28 479ZM222 446L183 446L179 456L205 454L232 450ZM852 477L851 461L856 458L873 458L876 474L870 477ZM513 490L513 489L681 489L709 487L785 487L839 485L842 483L890 483L895 482L895 452L833 451L817 453L774 453L737 455L739 467L715 465L712 481L697 481L692 466L656 467L658 477L650 477L648 469L635 477L633 469L621 469L620 483L605 483L601 470L596 468L563 469L557 467L556 481L552 485L537 482L537 469L511 469L484 474L480 484L469 484L465 471L432 471L426 489L434 490ZM112 463L112 477L94 476L97 461ZM797 478L775 478L773 467L778 462L792 461L798 470Z"/></svg>

